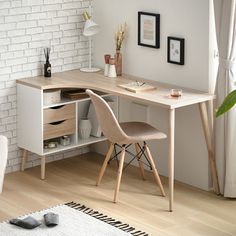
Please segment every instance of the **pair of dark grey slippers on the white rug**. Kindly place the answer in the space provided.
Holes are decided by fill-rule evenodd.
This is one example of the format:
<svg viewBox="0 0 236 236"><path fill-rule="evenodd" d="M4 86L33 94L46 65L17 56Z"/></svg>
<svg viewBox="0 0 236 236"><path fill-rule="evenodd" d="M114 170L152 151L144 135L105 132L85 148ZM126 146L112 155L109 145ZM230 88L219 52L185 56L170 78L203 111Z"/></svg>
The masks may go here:
<svg viewBox="0 0 236 236"><path fill-rule="evenodd" d="M44 222L47 227L54 227L59 224L59 215L53 212L49 212L44 216ZM10 224L19 226L24 229L34 229L41 225L41 222L28 216L24 219L12 219L9 221Z"/></svg>

